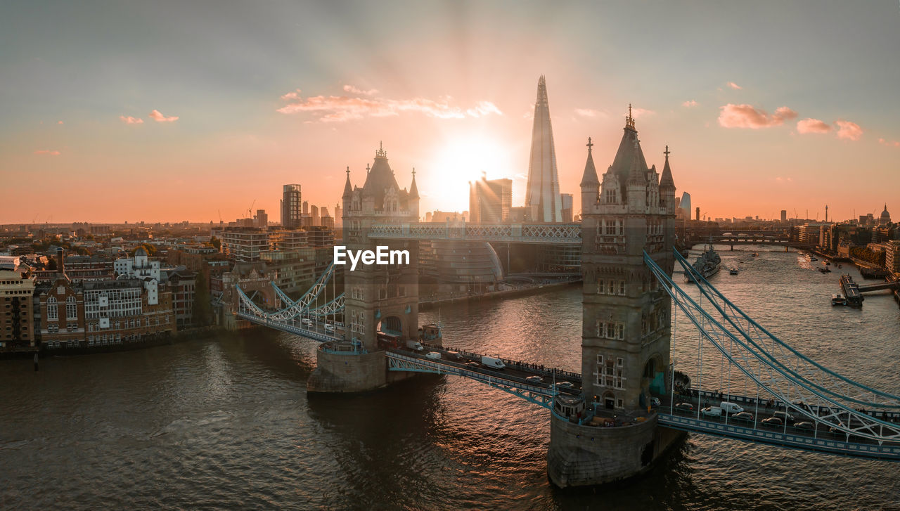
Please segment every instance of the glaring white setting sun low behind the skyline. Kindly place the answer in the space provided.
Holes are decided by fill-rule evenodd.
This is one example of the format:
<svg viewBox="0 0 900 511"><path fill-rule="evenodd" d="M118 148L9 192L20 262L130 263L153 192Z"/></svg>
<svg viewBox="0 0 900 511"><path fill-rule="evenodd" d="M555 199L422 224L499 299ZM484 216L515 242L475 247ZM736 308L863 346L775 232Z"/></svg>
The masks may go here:
<svg viewBox="0 0 900 511"><path fill-rule="evenodd" d="M423 211L468 211L470 182L482 175L488 179L511 179L515 174L512 148L491 135L466 134L446 139L435 154ZM419 189L426 189L425 184Z"/></svg>

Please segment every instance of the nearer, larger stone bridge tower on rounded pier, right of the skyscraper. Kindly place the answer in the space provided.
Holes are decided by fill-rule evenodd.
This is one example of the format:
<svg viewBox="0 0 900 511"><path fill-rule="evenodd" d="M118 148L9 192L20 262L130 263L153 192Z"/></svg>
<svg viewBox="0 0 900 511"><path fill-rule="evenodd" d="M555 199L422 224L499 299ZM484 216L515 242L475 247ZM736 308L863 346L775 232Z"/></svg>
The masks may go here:
<svg viewBox="0 0 900 511"><path fill-rule="evenodd" d="M669 272L674 264L669 148L661 178L647 166L630 106L624 131L602 184L589 139L581 179L583 402L554 402L547 472L560 487L640 473L677 436L647 414L652 393L665 394L670 369L671 300L643 260L646 251ZM582 407L627 426L581 425L561 413Z"/></svg>

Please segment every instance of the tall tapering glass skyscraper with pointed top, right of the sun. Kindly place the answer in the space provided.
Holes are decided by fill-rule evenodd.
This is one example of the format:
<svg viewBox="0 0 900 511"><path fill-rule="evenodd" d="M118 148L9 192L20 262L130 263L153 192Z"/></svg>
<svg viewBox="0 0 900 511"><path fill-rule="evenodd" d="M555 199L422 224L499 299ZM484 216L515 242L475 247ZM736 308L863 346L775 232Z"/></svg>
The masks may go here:
<svg viewBox="0 0 900 511"><path fill-rule="evenodd" d="M554 129L550 125L550 105L544 76L537 80L535 125L531 131L531 160L528 164L528 187L525 206L539 222L563 221L560 179L556 172Z"/></svg>

